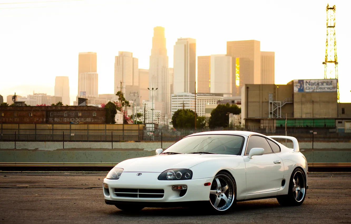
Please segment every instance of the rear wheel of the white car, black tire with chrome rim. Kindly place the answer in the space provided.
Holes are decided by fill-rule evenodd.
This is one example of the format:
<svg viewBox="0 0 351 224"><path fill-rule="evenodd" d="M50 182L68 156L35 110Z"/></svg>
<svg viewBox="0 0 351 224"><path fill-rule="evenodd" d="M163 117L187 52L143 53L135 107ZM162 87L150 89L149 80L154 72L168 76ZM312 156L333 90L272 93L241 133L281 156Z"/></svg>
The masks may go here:
<svg viewBox="0 0 351 224"><path fill-rule="evenodd" d="M301 205L306 197L306 175L301 168L296 168L291 174L287 195L277 197L282 206Z"/></svg>

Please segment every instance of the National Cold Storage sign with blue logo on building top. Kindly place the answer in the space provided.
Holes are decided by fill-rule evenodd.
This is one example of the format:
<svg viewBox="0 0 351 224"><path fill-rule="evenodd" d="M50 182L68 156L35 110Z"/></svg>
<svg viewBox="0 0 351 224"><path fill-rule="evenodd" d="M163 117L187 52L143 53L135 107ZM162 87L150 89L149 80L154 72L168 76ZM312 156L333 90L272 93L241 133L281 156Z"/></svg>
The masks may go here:
<svg viewBox="0 0 351 224"><path fill-rule="evenodd" d="M304 92L336 92L337 79L296 79L294 93Z"/></svg>

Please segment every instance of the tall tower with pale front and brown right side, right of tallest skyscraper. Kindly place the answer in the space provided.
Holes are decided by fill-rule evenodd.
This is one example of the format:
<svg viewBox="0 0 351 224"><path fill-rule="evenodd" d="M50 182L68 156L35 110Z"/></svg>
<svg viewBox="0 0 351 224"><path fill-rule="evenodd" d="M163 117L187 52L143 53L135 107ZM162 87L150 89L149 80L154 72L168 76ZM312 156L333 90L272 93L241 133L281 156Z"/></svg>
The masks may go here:
<svg viewBox="0 0 351 224"><path fill-rule="evenodd" d="M195 92L196 81L196 40L178 38L174 45L173 57L174 93Z"/></svg>

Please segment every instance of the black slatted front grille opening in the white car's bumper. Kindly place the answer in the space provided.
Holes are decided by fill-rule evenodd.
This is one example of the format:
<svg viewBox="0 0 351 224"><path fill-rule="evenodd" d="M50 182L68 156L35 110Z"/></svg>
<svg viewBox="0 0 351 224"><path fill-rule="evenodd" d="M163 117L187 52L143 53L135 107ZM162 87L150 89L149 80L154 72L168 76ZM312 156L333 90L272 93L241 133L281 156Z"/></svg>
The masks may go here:
<svg viewBox="0 0 351 224"><path fill-rule="evenodd" d="M115 188L114 191L117 197L129 198L163 198L165 194L163 189Z"/></svg>

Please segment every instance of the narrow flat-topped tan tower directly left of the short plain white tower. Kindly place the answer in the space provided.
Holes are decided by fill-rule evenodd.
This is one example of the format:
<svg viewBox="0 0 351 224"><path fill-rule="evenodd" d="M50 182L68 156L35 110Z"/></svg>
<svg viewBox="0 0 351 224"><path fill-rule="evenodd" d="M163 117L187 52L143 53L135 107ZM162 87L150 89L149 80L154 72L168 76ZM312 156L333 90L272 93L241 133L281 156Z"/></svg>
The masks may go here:
<svg viewBox="0 0 351 224"><path fill-rule="evenodd" d="M198 56L197 92L209 93L211 87L211 56Z"/></svg>

